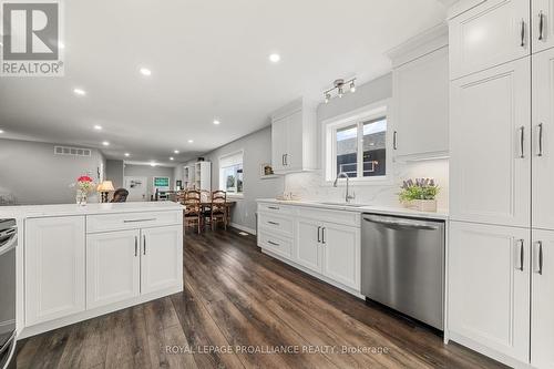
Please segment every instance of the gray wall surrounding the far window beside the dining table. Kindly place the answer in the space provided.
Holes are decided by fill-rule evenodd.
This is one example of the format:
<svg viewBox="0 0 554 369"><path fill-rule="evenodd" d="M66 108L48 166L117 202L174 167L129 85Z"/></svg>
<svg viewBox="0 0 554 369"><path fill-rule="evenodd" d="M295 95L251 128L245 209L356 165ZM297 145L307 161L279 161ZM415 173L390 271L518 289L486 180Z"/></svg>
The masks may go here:
<svg viewBox="0 0 554 369"><path fill-rule="evenodd" d="M216 148L204 156L212 162L212 189L219 187L219 157L244 151L244 197L237 198L232 221L238 226L256 229L256 198L275 197L283 193L283 177L261 180L259 166L271 163L271 127L265 127Z"/></svg>

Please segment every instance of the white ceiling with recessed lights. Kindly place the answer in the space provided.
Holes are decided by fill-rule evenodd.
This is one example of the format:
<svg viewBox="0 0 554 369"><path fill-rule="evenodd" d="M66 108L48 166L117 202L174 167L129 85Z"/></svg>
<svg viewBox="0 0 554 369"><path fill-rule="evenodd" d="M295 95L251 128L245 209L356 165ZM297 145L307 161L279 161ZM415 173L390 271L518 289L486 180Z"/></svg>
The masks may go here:
<svg viewBox="0 0 554 369"><path fill-rule="evenodd" d="M138 162L184 161L268 125L299 96L320 99L337 78L381 75L387 50L445 17L437 0L64 3L65 76L0 79L2 136Z"/></svg>

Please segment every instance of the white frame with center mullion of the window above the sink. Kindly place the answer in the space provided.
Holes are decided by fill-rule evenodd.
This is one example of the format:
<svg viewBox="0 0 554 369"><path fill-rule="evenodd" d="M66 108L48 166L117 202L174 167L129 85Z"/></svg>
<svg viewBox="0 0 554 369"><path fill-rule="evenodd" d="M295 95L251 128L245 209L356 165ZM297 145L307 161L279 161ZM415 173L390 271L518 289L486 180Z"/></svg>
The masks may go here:
<svg viewBox="0 0 554 369"><path fill-rule="evenodd" d="M337 130L357 125L358 140L363 140L363 123L384 116L387 120L386 133L386 175L383 176L363 176L363 148L360 150L360 142L357 146L357 171L361 171L362 176L350 177L349 181L357 185L391 185L393 184L392 171L392 124L390 114L390 99L378 101L346 114L325 120L322 122L322 147L321 147L321 167L324 168L324 185L330 186L337 177ZM346 181L339 181L339 185L345 185Z"/></svg>

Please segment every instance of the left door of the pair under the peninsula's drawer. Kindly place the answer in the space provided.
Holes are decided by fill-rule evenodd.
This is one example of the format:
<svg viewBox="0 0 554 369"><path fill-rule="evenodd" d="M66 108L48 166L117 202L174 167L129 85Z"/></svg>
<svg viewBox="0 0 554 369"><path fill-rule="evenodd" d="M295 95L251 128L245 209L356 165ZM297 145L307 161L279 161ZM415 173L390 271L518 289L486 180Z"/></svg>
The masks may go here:
<svg viewBox="0 0 554 369"><path fill-rule="evenodd" d="M137 229L86 236L86 308L138 296L140 236Z"/></svg>

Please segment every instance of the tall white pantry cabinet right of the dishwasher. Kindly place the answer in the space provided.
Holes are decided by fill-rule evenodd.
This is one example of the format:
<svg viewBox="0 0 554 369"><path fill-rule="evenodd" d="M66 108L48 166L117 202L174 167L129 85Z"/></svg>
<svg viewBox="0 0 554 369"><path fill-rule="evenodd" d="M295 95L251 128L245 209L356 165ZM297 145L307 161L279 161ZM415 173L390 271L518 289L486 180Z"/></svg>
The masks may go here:
<svg viewBox="0 0 554 369"><path fill-rule="evenodd" d="M462 0L449 21L449 335L535 368L554 368L553 6Z"/></svg>

